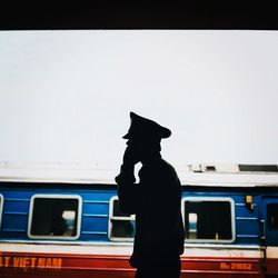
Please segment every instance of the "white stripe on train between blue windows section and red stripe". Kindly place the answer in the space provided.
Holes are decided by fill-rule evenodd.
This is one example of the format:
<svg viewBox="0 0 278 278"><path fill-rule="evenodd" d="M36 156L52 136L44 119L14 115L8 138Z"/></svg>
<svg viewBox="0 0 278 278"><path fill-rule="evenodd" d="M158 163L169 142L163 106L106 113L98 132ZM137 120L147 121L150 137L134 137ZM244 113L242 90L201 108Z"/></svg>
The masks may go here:
<svg viewBox="0 0 278 278"><path fill-rule="evenodd" d="M268 247L268 257L278 258L278 247ZM41 254L80 254L80 255L122 255L130 256L132 244L118 242L83 242L80 244L26 244L1 242L0 252L41 252ZM212 257L212 258L262 258L264 254L258 246L187 246L182 257Z"/></svg>

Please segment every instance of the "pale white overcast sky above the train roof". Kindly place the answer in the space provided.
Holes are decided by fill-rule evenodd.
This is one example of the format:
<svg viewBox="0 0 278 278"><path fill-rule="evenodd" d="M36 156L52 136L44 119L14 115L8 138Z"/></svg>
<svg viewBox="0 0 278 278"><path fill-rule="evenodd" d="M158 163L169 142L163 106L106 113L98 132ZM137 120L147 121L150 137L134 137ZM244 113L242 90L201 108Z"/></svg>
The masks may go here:
<svg viewBox="0 0 278 278"><path fill-rule="evenodd" d="M0 161L118 169L129 112L173 166L278 163L278 32L0 32Z"/></svg>

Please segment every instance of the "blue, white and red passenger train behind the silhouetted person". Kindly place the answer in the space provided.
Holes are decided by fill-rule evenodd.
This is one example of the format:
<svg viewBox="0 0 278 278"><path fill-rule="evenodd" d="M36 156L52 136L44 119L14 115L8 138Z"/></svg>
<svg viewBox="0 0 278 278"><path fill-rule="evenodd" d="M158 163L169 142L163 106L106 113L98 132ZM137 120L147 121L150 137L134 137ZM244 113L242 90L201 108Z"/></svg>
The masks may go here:
<svg viewBox="0 0 278 278"><path fill-rule="evenodd" d="M187 169L180 278L278 277L278 166ZM113 177L1 176L0 277L131 278L135 221Z"/></svg>

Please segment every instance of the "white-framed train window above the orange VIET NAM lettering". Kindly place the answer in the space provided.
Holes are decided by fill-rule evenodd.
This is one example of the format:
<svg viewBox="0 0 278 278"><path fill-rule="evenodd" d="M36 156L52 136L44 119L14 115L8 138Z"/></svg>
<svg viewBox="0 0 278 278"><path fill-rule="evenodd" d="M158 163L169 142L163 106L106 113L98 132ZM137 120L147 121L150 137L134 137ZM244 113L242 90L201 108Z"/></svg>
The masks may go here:
<svg viewBox="0 0 278 278"><path fill-rule="evenodd" d="M80 235L81 197L34 195L31 199L30 238L77 239Z"/></svg>

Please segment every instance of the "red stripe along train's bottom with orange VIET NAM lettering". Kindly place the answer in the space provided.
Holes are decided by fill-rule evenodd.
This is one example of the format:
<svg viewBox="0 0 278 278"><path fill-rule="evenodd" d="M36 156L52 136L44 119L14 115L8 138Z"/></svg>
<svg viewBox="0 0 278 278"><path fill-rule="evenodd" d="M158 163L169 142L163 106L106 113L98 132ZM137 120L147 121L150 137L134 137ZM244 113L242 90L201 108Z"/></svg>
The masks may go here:
<svg viewBox="0 0 278 278"><path fill-rule="evenodd" d="M0 277L133 277L135 269L129 266L128 256L120 255L76 255L1 252ZM259 258L181 258L181 277L264 277L262 260ZM270 264L270 260L269 260ZM268 267L278 274L278 260L271 260ZM221 276L219 276L221 275Z"/></svg>

